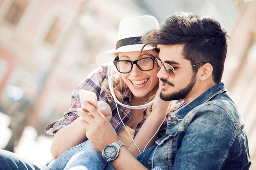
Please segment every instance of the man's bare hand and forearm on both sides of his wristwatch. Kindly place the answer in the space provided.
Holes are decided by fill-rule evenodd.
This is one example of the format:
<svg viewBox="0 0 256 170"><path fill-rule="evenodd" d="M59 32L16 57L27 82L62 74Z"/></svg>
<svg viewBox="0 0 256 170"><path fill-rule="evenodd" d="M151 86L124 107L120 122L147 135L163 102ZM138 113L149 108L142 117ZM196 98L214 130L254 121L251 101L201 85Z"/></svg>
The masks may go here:
<svg viewBox="0 0 256 170"><path fill-rule="evenodd" d="M87 111L79 109L79 114L83 118L86 136L93 146L102 152L106 145L119 139L107 118L90 103L85 102L84 104ZM146 169L125 147L120 148L118 158L111 161L111 164L116 170L131 170L134 167L137 170Z"/></svg>

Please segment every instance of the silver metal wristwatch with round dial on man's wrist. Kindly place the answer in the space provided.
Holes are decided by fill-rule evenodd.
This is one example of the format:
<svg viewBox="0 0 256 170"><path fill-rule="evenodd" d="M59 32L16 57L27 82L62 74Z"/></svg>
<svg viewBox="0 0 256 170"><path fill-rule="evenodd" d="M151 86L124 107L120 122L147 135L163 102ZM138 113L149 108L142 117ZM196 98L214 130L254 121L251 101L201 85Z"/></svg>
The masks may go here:
<svg viewBox="0 0 256 170"><path fill-rule="evenodd" d="M122 146L125 146L125 144L123 144L120 140L108 144L107 146L104 147L102 151L102 157L108 162L115 160L119 155L119 150Z"/></svg>

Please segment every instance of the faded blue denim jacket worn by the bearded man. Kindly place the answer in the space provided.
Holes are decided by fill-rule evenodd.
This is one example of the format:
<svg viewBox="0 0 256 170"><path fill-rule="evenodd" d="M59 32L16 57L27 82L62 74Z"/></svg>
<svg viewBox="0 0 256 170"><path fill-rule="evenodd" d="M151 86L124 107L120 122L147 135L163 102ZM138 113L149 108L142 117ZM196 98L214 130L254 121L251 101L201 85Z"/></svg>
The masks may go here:
<svg viewBox="0 0 256 170"><path fill-rule="evenodd" d="M166 134L137 159L157 170L248 170L244 121L224 83L173 112Z"/></svg>

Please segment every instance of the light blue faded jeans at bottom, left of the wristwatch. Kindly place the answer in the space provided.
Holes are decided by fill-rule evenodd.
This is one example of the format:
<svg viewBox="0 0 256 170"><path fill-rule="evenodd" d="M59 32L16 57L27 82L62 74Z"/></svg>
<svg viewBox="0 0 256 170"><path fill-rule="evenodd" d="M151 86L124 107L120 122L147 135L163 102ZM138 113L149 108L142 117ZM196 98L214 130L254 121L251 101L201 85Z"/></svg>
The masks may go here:
<svg viewBox="0 0 256 170"><path fill-rule="evenodd" d="M57 159L47 163L47 166L54 170L67 170L75 166L84 166L88 170L114 169L88 140L66 150Z"/></svg>

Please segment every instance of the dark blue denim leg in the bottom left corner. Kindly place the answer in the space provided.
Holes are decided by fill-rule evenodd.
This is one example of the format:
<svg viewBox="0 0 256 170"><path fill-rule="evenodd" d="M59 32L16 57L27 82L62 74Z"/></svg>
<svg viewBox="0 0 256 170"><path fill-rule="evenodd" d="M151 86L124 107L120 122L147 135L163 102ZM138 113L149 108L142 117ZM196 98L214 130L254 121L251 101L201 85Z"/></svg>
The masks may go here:
<svg viewBox="0 0 256 170"><path fill-rule="evenodd" d="M32 164L21 156L0 150L0 170L51 170L49 167Z"/></svg>

